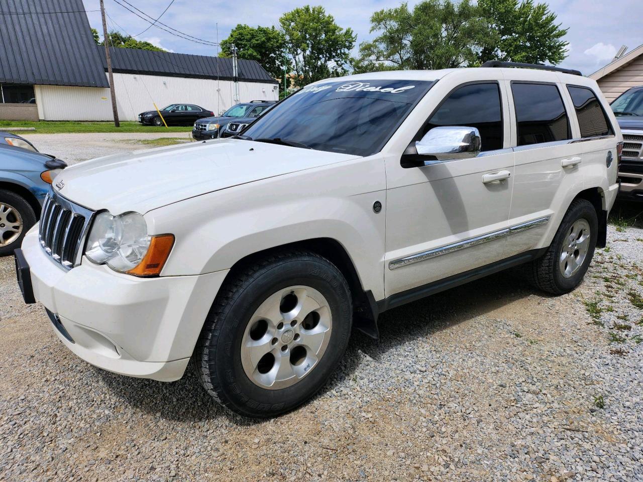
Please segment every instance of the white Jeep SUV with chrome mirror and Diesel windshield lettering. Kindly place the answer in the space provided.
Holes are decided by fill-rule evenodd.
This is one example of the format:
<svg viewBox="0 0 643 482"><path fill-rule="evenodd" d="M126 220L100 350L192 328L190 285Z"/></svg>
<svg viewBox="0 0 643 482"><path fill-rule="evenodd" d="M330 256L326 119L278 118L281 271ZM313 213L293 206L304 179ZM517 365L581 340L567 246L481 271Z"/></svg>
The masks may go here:
<svg viewBox="0 0 643 482"><path fill-rule="evenodd" d="M248 416L320 389L352 326L525 265L553 294L606 242L619 143L596 82L473 68L333 78L242 135L72 166L16 253L78 357Z"/></svg>

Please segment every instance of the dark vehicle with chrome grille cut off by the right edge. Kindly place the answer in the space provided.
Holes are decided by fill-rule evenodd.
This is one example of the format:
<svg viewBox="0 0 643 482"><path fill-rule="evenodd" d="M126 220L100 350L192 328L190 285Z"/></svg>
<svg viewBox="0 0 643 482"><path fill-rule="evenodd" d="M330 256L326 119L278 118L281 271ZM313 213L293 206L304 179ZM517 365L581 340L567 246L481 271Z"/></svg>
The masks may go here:
<svg viewBox="0 0 643 482"><path fill-rule="evenodd" d="M611 110L623 133L619 197L643 201L643 85L620 94Z"/></svg>

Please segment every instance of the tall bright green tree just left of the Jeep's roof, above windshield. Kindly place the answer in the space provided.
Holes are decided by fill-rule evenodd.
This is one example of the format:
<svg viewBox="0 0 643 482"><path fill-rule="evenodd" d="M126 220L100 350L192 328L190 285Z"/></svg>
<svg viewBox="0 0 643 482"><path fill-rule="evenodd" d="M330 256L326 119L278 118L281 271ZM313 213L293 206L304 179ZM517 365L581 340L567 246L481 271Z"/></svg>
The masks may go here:
<svg viewBox="0 0 643 482"><path fill-rule="evenodd" d="M295 8L284 13L279 23L284 30L285 51L293 63L296 85L346 73L349 53L357 37L350 28L338 26L322 6Z"/></svg>

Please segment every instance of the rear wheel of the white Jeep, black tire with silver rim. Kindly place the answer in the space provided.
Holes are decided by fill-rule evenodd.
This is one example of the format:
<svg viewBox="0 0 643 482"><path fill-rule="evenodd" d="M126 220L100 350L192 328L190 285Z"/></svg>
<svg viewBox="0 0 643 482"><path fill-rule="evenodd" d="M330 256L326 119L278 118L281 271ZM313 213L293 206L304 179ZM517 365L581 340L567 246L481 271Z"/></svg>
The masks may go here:
<svg viewBox="0 0 643 482"><path fill-rule="evenodd" d="M575 241L572 240L572 232L577 237ZM577 199L565 213L545 254L525 264L523 274L532 285L545 292L556 295L568 293L583 281L592 262L597 237L598 217L594 206L585 199ZM565 253L571 253L573 258Z"/></svg>

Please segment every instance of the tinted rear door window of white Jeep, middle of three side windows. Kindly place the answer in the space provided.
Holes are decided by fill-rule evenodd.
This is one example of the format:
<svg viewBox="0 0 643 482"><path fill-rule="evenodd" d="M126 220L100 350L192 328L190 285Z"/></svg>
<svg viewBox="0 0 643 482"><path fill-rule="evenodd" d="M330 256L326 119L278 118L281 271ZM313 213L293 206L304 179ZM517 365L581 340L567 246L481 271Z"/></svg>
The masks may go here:
<svg viewBox="0 0 643 482"><path fill-rule="evenodd" d="M570 139L569 119L556 85L513 82L511 91L519 146Z"/></svg>

